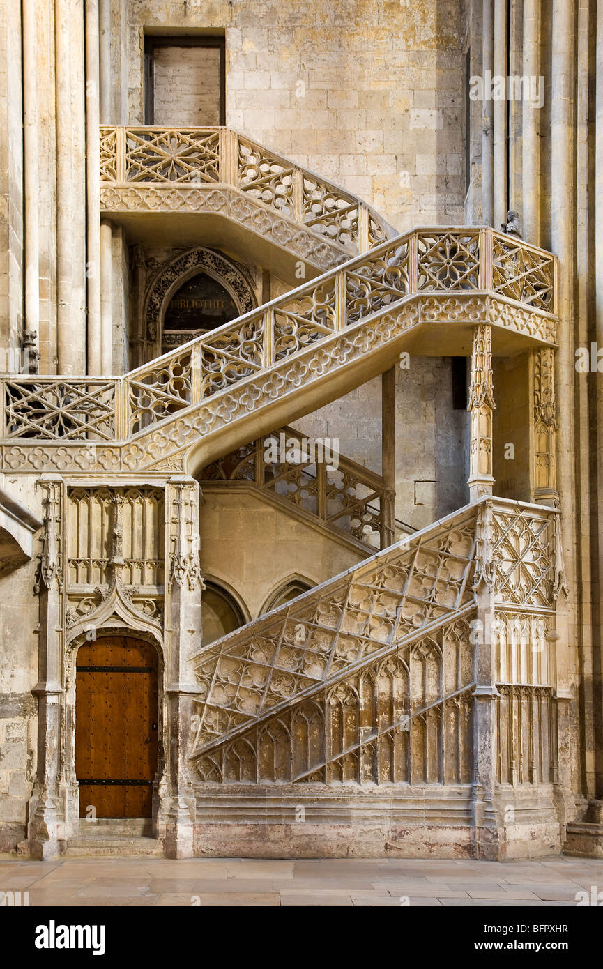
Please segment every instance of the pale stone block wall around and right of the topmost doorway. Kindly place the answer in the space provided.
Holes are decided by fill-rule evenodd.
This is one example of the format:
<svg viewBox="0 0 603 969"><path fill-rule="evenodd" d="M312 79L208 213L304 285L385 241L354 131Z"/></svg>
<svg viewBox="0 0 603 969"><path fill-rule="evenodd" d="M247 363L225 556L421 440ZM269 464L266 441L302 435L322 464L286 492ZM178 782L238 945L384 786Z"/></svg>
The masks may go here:
<svg viewBox="0 0 603 969"><path fill-rule="evenodd" d="M360 195L400 231L462 221L460 0L132 0L130 124L143 123L143 30L167 27L225 32L231 127Z"/></svg>

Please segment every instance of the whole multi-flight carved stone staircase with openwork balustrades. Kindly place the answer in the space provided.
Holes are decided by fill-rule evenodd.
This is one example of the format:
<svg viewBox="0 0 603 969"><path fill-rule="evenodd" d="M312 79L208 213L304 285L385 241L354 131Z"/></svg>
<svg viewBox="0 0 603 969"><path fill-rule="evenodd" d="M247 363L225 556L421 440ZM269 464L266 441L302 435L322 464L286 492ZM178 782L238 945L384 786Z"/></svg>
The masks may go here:
<svg viewBox="0 0 603 969"><path fill-rule="evenodd" d="M368 826L367 851L375 830L377 840L383 833L375 819L383 827L387 817L386 840L399 830L402 839L423 839L428 829L440 845L454 837L455 850L495 857L510 798L553 844L550 654L564 587L555 509L493 498L492 475L473 468L471 504L390 545L391 510L383 512L391 496L382 490L382 550L206 647L195 640L201 568L190 549L198 535L193 477L383 373L401 353L472 354L472 453L480 453L480 434L491 446L491 391L478 385L492 377L492 354L553 352L555 257L488 227L392 237L360 200L227 130L106 129L103 137L103 211L211 211L326 270L122 377L2 379L0 470L61 476L45 485L43 575L58 574L52 556L66 546L66 534L60 542L56 535L65 479L72 490L91 479L96 488L165 490L177 580L162 587L161 611L156 602L152 615L137 610L121 579L111 592L105 582L99 593L97 582L102 601L72 610L79 619L68 633L77 639L82 616L98 628L117 616L157 640L170 629L169 714L179 726L170 735L178 751L167 851L192 853L194 834L207 855L238 854L238 837L243 853L282 853L282 828L271 835L270 823L289 825L302 803L317 824ZM377 483L367 484L376 493ZM127 563L119 543L112 549L121 576ZM81 595L69 587L69 563L61 568L63 583L48 592L52 615L63 589L68 599ZM194 815L195 830L187 822L181 848L185 815ZM251 824L268 830L271 848L264 835L249 838ZM293 854L311 855L311 825L289 827ZM82 824L66 847L68 858L160 854L148 822L137 819Z"/></svg>

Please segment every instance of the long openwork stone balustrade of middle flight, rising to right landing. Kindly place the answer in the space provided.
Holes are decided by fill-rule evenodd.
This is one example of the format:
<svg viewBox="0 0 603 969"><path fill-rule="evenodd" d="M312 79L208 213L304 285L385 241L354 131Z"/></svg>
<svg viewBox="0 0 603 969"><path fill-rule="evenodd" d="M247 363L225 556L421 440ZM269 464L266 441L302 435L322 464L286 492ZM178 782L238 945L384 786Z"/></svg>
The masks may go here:
<svg viewBox="0 0 603 969"><path fill-rule="evenodd" d="M401 350L555 347L555 257L491 229L420 229L119 378L2 379L5 471L197 473Z"/></svg>

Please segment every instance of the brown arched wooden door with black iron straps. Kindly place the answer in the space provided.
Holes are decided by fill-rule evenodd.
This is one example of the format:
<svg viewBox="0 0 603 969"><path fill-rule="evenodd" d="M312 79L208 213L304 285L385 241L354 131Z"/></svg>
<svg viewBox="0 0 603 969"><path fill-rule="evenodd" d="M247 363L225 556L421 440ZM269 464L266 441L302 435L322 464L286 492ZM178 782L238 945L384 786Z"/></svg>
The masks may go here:
<svg viewBox="0 0 603 969"><path fill-rule="evenodd" d="M79 815L149 818L157 770L157 653L117 636L79 647L76 775Z"/></svg>

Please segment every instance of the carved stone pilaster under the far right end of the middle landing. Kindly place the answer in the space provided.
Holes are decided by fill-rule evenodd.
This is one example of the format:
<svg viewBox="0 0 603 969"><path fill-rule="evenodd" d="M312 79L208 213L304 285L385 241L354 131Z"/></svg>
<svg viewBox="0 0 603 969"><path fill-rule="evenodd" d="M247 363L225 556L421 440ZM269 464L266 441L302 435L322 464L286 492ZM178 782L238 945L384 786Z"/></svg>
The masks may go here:
<svg viewBox="0 0 603 969"><path fill-rule="evenodd" d="M555 350L539 347L530 354L532 390L530 428L531 496L541 505L558 507L556 489Z"/></svg>

